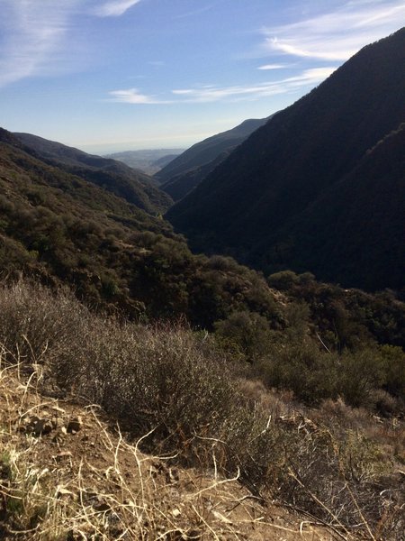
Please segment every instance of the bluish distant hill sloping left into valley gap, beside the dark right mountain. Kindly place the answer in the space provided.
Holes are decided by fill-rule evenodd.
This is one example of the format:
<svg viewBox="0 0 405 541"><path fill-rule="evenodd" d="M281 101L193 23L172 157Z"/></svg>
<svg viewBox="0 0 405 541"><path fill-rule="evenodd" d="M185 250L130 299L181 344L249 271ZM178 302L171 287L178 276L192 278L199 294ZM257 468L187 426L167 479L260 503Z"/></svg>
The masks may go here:
<svg viewBox="0 0 405 541"><path fill-rule="evenodd" d="M204 139L202 142L197 142L191 148L184 151L183 154L175 158L175 160L170 161L162 170L158 171L155 179L168 187L169 183L175 181L175 178L178 179L181 175L198 170L202 166L209 164L212 160L217 160L221 154L223 159L225 159L229 151L245 141L250 133L253 133L257 128L266 124L266 121L266 118L245 120L245 122L238 124L238 126L227 132L218 133L208 139ZM170 192L168 191L167 193Z"/></svg>

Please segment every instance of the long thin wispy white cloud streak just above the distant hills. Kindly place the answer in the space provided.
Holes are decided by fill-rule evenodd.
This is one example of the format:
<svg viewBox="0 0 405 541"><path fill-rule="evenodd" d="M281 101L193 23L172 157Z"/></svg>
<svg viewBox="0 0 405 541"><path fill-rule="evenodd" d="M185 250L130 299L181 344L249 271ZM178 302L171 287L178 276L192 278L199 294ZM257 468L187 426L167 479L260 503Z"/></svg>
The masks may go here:
<svg viewBox="0 0 405 541"><path fill-rule="evenodd" d="M263 97L275 96L286 92L294 92L319 84L336 68L305 69L295 77L259 83L257 85L239 85L231 87L218 87L208 85L196 88L179 88L172 90L169 99L158 99L156 96L147 96L139 93L136 88L128 90L114 90L110 92L113 101L136 104L181 104L181 103L210 103L217 101L245 101L257 100Z"/></svg>

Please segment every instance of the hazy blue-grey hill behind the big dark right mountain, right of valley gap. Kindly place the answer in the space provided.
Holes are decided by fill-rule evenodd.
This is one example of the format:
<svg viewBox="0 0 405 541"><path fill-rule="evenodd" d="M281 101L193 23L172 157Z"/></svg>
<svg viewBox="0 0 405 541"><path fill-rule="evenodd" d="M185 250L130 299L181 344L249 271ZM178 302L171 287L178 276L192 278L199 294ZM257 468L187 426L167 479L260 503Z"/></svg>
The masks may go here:
<svg viewBox="0 0 405 541"><path fill-rule="evenodd" d="M270 118L270 117L269 117ZM212 135L202 142L197 142L184 151L175 160L155 174L166 191L175 201L184 197L195 188L202 179L225 160L241 142L257 128L266 124L268 118L249 119L227 132Z"/></svg>

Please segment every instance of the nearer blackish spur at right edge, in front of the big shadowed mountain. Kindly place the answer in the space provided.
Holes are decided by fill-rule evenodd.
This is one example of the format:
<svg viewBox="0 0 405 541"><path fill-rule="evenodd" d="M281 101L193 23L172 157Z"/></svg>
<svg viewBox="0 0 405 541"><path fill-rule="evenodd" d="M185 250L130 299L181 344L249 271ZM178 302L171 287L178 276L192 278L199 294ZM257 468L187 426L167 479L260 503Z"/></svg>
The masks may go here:
<svg viewBox="0 0 405 541"><path fill-rule="evenodd" d="M405 124L401 124L284 230L280 236L294 239L291 261L314 269L326 280L336 279L339 269L342 283L401 289L405 284L404 193ZM260 252L258 245L257 260Z"/></svg>

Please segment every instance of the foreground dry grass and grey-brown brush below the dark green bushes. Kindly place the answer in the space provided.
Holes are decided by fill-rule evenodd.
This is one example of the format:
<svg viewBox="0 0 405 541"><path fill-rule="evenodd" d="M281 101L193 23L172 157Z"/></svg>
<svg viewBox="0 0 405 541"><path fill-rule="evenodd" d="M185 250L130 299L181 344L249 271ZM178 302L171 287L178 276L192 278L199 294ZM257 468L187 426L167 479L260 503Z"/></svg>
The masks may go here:
<svg viewBox="0 0 405 541"><path fill-rule="evenodd" d="M62 539L186 539L193 531L276 539L268 525L259 534L268 514L261 506L277 500L329 527L329 536L402 540L394 434L374 437L378 425L365 412L341 401L316 415L297 408L290 395L240 379L209 336L182 326L126 325L26 284L2 290L0 308L0 378L10 390L2 399L0 509L8 528L40 539L58 538L50 535L56 527ZM120 429L112 435L94 407L85 414L93 428L75 436L75 451L67 447L72 455L58 423L49 430L55 440L32 437L27 418L55 417L55 399L44 399L55 392L97 404L125 437ZM66 408L69 417L83 415ZM395 434L403 436L403 425ZM285 528L288 539L293 528Z"/></svg>

